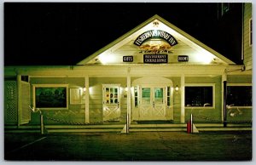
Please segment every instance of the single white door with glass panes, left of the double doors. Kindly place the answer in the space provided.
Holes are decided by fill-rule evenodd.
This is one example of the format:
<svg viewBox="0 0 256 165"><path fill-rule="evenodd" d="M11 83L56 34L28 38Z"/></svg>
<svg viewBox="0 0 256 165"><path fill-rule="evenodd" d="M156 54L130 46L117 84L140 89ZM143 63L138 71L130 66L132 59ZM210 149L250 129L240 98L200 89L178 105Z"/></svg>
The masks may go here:
<svg viewBox="0 0 256 165"><path fill-rule="evenodd" d="M119 86L103 85L103 121L117 121L120 115Z"/></svg>

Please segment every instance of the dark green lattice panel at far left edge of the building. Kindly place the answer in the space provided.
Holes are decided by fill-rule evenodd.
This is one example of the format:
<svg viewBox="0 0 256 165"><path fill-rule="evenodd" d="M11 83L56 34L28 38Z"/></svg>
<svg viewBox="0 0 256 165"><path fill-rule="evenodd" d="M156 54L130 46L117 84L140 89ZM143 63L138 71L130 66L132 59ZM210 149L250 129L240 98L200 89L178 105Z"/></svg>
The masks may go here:
<svg viewBox="0 0 256 165"><path fill-rule="evenodd" d="M17 83L15 81L4 82L4 122L17 122Z"/></svg>

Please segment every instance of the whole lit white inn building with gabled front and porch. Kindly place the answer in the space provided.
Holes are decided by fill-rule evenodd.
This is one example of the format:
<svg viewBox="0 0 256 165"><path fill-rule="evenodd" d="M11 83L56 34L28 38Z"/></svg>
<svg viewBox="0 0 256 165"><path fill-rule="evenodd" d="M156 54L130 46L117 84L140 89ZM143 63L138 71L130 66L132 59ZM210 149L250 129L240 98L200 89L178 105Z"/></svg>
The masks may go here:
<svg viewBox="0 0 256 165"><path fill-rule="evenodd" d="M45 125L251 123L251 8L244 65L154 15L77 65L5 66L5 126L40 124L29 106Z"/></svg>

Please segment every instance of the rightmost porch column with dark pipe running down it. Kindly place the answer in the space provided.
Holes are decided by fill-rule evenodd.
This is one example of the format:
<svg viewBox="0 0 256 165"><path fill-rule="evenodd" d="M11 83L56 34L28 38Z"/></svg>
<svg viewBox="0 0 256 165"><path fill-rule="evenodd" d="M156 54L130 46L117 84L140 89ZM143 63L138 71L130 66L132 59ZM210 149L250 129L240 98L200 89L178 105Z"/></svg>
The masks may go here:
<svg viewBox="0 0 256 165"><path fill-rule="evenodd" d="M222 75L222 121L224 127L227 126L227 107L226 107L226 99L227 99L227 75L224 73Z"/></svg>

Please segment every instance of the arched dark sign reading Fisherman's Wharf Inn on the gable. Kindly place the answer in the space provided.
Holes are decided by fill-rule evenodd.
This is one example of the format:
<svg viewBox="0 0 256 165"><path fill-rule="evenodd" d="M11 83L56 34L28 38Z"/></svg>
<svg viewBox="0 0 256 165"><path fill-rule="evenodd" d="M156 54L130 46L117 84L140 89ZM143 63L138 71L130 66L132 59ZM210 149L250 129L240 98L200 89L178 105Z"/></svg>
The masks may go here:
<svg viewBox="0 0 256 165"><path fill-rule="evenodd" d="M166 31L160 31L160 30L151 30L143 32L139 37L136 38L134 41L134 44L137 46L141 46L145 41L147 41L149 38L162 38L166 40L167 43L169 43L171 46L174 46L177 44L177 40L172 37L171 34L169 34Z"/></svg>

